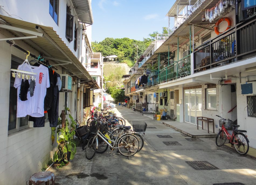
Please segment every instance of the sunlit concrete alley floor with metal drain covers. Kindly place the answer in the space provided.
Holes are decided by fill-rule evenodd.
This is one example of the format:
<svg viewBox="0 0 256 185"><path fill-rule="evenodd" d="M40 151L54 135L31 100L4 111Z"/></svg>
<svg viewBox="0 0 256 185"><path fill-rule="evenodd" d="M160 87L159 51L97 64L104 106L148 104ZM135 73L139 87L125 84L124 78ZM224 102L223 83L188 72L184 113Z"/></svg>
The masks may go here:
<svg viewBox="0 0 256 185"><path fill-rule="evenodd" d="M239 156L234 149L217 147L215 138L192 138L130 109L116 106L117 115L127 122L146 121L144 147L128 158L108 149L88 161L84 151L78 152L70 164L61 169L50 168L55 184L202 184L239 182L256 184L256 160ZM127 125L129 125L127 123ZM155 128L148 128L155 127ZM159 138L157 135L169 135ZM164 142L175 142L167 146ZM188 163L206 161L212 170L196 170ZM193 162L192 162L193 163ZM195 163L195 162L194 162ZM198 164L198 167L202 167Z"/></svg>

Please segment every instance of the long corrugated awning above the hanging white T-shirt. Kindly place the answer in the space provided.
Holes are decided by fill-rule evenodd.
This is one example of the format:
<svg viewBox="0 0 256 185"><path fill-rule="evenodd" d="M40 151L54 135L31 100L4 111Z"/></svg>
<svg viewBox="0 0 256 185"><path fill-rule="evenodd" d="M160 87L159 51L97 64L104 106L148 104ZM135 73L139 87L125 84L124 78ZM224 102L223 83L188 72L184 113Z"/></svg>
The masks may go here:
<svg viewBox="0 0 256 185"><path fill-rule="evenodd" d="M23 40L28 45L38 50L45 57L52 57L59 60L71 61L71 64L65 64L62 67L73 73L75 76L81 79L85 79L93 83L91 88L99 88L97 82L91 77L91 75L86 71L81 62L77 59L77 57L72 53L72 51L68 48L68 46L61 40L59 35L57 35L56 31L53 30L52 27L47 27L39 24L34 24L26 21L22 21L19 19L14 19L11 17L6 17L0 15L1 19L13 27L23 28L30 31L38 31L44 34L44 37L38 37L33 39L25 39ZM16 31L11 31L14 35L16 35ZM20 32L19 32L20 34ZM25 36L30 36L30 34L22 33ZM59 61L56 61L57 64L61 64Z"/></svg>

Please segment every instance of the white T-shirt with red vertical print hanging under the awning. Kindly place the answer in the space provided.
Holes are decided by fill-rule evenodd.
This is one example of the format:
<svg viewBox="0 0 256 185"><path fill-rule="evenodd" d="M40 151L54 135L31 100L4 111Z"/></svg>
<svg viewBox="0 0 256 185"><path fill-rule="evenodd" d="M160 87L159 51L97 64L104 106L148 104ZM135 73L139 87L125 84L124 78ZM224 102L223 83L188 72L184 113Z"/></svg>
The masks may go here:
<svg viewBox="0 0 256 185"><path fill-rule="evenodd" d="M44 116L44 97L46 95L46 88L50 87L49 81L49 71L46 66L31 66L34 73L37 73L36 76L36 86L34 89L34 95L30 97L30 92L27 92L27 100L21 101L19 99L20 85L22 77L19 78L18 75L15 77L14 87L17 88L17 117L25 117L30 115L33 117L42 117ZM19 70L22 71L31 71L28 64L23 64ZM30 75L30 79L31 79ZM29 80L30 83L30 80Z"/></svg>

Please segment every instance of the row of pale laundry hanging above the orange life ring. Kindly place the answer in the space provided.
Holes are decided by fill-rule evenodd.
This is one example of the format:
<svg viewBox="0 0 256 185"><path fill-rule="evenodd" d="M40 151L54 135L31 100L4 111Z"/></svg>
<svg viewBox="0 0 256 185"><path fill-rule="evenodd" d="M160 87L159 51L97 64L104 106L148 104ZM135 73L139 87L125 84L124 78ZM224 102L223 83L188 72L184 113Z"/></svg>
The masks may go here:
<svg viewBox="0 0 256 185"><path fill-rule="evenodd" d="M225 16L235 8L234 0L220 0L213 8L205 10L206 20L211 23L219 16Z"/></svg>

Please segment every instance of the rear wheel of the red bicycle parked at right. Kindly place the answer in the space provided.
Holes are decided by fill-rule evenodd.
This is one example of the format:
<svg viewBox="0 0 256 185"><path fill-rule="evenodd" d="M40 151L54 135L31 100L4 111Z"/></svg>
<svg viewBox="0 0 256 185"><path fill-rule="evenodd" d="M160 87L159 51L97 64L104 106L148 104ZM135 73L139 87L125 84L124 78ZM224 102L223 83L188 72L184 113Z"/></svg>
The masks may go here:
<svg viewBox="0 0 256 185"><path fill-rule="evenodd" d="M249 150L249 140L243 133L235 134L233 138L234 148L241 155L247 154Z"/></svg>

